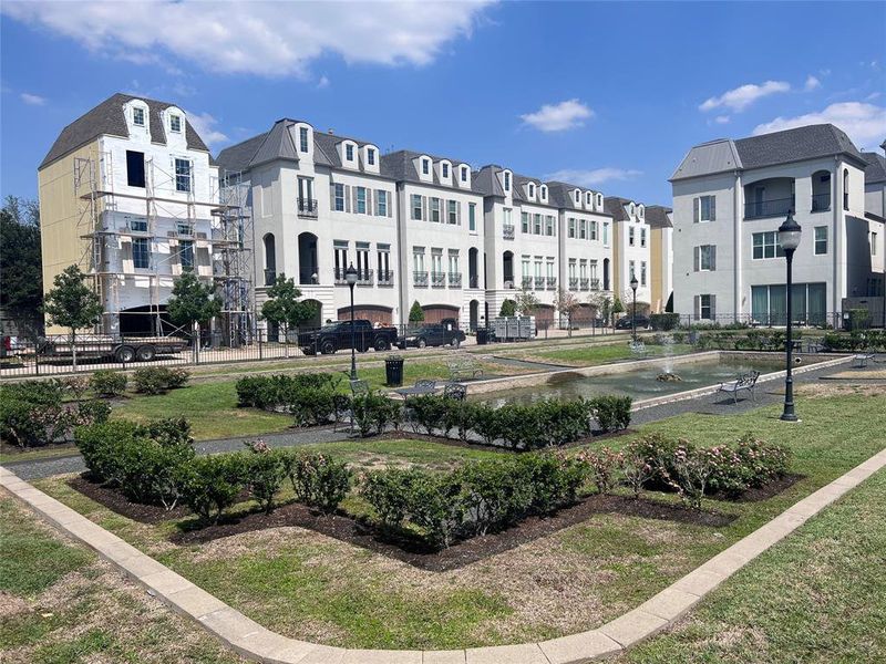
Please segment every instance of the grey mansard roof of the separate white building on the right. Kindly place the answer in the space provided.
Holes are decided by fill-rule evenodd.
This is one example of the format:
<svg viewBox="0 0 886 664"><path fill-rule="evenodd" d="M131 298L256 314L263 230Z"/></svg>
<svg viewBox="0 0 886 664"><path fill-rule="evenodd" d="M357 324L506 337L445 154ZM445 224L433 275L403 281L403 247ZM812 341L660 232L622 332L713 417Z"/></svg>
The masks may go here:
<svg viewBox="0 0 886 664"><path fill-rule="evenodd" d="M832 124L807 125L736 141L721 138L690 149L671 181L834 155L865 166L858 148L845 132Z"/></svg>

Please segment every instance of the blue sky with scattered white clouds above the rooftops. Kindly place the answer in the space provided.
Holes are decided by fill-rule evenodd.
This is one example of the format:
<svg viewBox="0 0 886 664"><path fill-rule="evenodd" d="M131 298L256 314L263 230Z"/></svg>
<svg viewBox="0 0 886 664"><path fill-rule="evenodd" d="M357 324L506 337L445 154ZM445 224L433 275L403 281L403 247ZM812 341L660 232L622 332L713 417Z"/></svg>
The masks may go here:
<svg viewBox="0 0 886 664"><path fill-rule="evenodd" d="M0 6L0 193L37 195L68 123L128 92L214 152L280 117L668 205L687 149L834 122L886 137L886 3Z"/></svg>

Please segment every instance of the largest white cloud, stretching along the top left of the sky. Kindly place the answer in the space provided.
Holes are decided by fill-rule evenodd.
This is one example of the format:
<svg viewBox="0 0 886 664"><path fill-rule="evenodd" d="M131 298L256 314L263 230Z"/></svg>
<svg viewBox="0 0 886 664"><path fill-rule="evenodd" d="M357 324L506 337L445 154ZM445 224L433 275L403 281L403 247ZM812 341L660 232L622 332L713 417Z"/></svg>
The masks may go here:
<svg viewBox="0 0 886 664"><path fill-rule="evenodd" d="M162 52L215 72L307 77L310 62L329 53L349 63L427 64L471 35L488 2L8 0L2 12L132 62L161 62Z"/></svg>

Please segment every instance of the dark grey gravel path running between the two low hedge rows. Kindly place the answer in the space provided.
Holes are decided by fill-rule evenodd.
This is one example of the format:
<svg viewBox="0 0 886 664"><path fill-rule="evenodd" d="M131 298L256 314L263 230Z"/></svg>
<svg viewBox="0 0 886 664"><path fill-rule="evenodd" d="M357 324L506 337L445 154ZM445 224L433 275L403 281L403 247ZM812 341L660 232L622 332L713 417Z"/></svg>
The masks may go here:
<svg viewBox="0 0 886 664"><path fill-rule="evenodd" d="M886 360L886 355L880 355L878 360ZM846 365L831 366L821 370L810 371L794 376L794 385L817 382L821 376L833 373L846 372ZM739 403L733 404L732 397L728 395L708 394L694 398L670 402L648 408L640 408L631 416L632 425L642 425L657 419L681 415L683 413L703 413L708 415L734 415L745 413L760 406L767 406L781 403L784 400L784 381L767 381L761 383L756 390L756 401L751 400L750 395L739 397ZM802 418L802 407L799 408L799 416ZM265 434L264 436L249 436L241 438L226 438L222 440L202 440L195 444L197 454L215 454L219 452L231 452L244 448L244 443L260 437L271 447L295 447L298 445L310 445L312 443L331 443L334 440L347 440L347 427L333 430L331 427L312 429L292 429L279 434ZM49 459L34 459L29 461L10 461L4 464L7 468L16 473L24 480L62 475L66 473L82 473L86 469L83 459L78 454L64 457L53 457Z"/></svg>

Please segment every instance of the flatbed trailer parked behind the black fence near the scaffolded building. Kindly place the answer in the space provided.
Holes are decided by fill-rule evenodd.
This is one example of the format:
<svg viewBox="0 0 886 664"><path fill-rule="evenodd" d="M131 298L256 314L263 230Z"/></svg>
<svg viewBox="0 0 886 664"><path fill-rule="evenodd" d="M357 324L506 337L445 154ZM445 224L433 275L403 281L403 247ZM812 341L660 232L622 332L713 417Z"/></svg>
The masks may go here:
<svg viewBox="0 0 886 664"><path fill-rule="evenodd" d="M71 357L76 349L78 360L113 357L117 362L151 362L157 355L181 353L187 341L176 336L112 336L84 334L71 344L69 336L38 340L37 351L43 357Z"/></svg>

